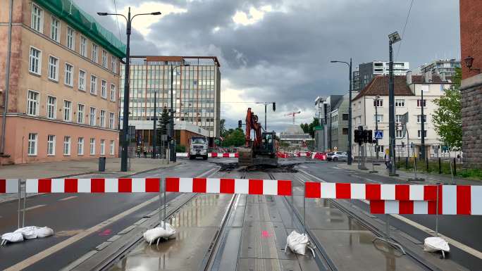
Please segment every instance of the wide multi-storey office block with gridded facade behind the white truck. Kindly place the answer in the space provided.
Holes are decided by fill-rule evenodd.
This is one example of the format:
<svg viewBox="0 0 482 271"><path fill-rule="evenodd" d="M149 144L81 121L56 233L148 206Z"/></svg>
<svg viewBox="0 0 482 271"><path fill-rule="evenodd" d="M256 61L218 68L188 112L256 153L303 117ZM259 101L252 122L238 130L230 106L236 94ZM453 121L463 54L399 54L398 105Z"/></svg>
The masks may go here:
<svg viewBox="0 0 482 271"><path fill-rule="evenodd" d="M174 123L189 122L219 137L221 72L216 56L132 56L130 58L129 125L137 142L152 145L154 105L158 118L171 107L173 68ZM124 68L121 66L121 128L123 120ZM154 100L156 93L156 101Z"/></svg>

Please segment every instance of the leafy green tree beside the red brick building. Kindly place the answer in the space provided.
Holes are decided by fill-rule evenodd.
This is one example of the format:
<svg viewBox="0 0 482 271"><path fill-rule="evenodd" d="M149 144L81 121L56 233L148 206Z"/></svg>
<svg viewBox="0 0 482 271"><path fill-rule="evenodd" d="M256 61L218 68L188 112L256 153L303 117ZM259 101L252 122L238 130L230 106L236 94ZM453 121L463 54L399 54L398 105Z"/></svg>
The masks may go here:
<svg viewBox="0 0 482 271"><path fill-rule="evenodd" d="M445 96L433 101L438 106L432 114L435 131L437 131L440 139L453 150L462 148L461 81L462 69L457 68L456 75L452 77L452 82L454 82L452 87L445 89Z"/></svg>

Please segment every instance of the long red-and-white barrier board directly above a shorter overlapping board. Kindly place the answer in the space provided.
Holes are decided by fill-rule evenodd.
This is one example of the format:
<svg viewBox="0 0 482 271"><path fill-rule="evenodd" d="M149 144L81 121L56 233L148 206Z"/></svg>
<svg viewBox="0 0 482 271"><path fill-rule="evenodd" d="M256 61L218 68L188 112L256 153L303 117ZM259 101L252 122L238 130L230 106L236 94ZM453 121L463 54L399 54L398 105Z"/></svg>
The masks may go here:
<svg viewBox="0 0 482 271"><path fill-rule="evenodd" d="M435 201L437 187L424 184L351 184L305 182L306 198Z"/></svg>

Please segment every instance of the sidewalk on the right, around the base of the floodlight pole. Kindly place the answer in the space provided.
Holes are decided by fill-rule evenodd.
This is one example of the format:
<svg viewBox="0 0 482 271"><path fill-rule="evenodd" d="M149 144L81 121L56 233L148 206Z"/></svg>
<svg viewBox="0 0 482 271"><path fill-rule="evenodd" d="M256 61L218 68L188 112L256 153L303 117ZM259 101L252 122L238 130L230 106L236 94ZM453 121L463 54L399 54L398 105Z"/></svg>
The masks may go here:
<svg viewBox="0 0 482 271"><path fill-rule="evenodd" d="M374 169L378 171L378 173L372 173L372 174L381 175L384 177L390 177L388 175L388 170L385 168L385 165L383 165L383 161L378 163L380 163L381 165L374 166ZM366 168L368 168L368 170L359 170L358 163L354 162L352 163L352 165L347 165L346 163L338 164L338 168L343 168L346 170L357 170L359 172L369 173L369 171L372 170L373 166L371 163L366 163ZM413 170L412 171L397 170L397 174L399 176L395 178L402 179L402 180L413 179L415 177ZM429 184L436 184L438 182L442 184L452 184L452 177L447 175L416 172L416 177L425 179L425 182ZM462 185L481 185L481 182L471 180L471 179L461 179L459 177L454 177L454 182L455 184L462 184Z"/></svg>

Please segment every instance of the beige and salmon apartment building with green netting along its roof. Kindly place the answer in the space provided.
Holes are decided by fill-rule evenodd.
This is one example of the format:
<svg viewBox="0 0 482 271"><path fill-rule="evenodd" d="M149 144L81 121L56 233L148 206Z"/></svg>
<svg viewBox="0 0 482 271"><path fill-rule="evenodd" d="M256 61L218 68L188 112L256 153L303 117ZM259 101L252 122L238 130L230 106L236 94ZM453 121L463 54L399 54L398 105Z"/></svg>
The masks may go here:
<svg viewBox="0 0 482 271"><path fill-rule="evenodd" d="M117 156L124 44L73 1L13 0L12 18L9 3L0 0L0 163Z"/></svg>

